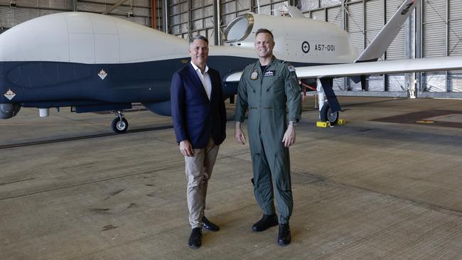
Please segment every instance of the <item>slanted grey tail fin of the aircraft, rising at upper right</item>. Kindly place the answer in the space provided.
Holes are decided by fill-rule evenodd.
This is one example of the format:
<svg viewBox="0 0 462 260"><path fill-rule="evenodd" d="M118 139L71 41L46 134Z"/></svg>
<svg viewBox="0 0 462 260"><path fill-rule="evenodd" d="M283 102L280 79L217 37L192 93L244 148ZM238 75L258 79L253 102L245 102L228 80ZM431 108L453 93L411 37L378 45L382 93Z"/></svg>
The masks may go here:
<svg viewBox="0 0 462 260"><path fill-rule="evenodd" d="M355 63L365 61L376 61L387 50L388 46L401 30L404 21L410 16L412 10L419 4L420 0L405 0L394 13L390 21L380 30L374 40L367 46Z"/></svg>

